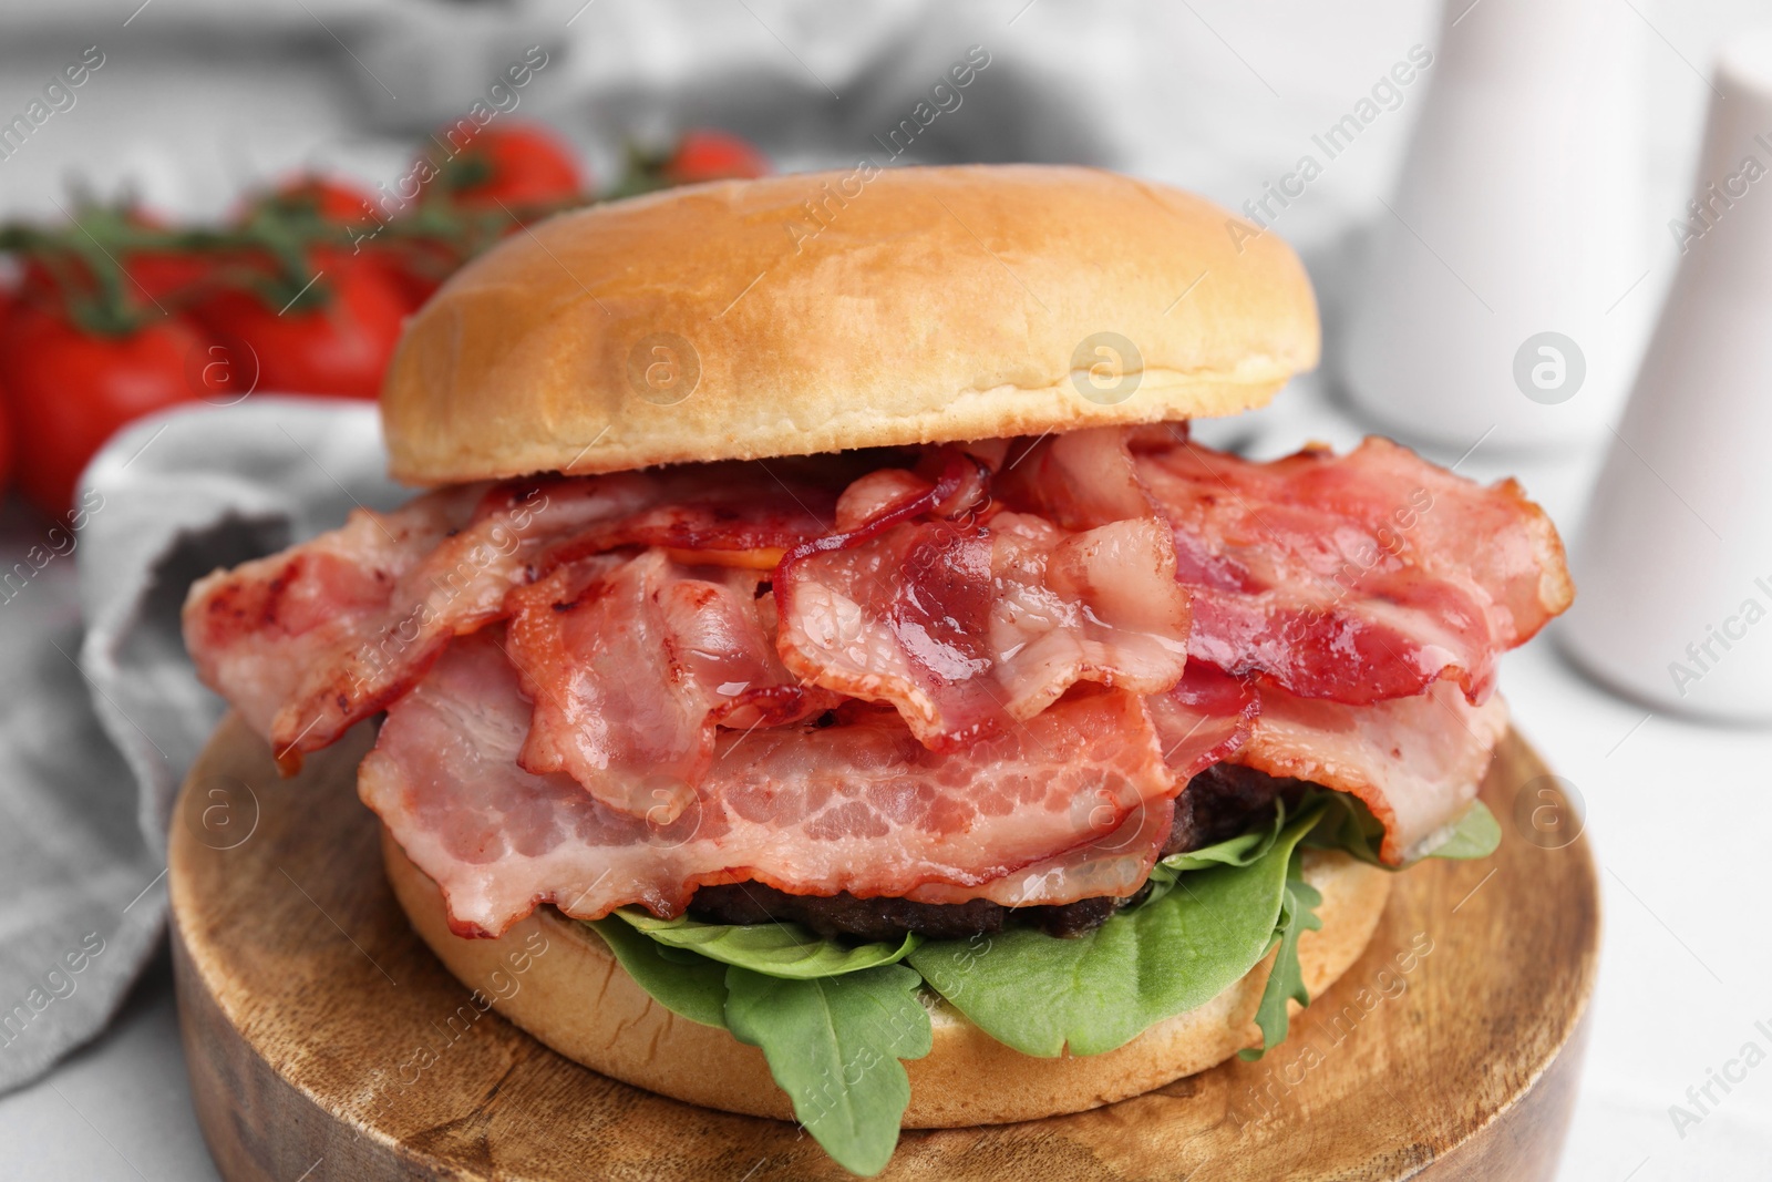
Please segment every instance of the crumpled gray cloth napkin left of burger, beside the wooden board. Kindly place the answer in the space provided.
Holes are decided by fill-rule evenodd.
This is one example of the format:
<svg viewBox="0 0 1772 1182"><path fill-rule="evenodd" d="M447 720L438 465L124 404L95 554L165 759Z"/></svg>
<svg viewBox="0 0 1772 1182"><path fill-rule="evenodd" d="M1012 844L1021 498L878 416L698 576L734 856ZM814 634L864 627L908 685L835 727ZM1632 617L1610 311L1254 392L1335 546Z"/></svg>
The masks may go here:
<svg viewBox="0 0 1772 1182"><path fill-rule="evenodd" d="M186 588L400 503L385 464L374 406L255 395L117 434L71 521L0 517L0 1090L96 1035L159 936L172 801L225 709Z"/></svg>

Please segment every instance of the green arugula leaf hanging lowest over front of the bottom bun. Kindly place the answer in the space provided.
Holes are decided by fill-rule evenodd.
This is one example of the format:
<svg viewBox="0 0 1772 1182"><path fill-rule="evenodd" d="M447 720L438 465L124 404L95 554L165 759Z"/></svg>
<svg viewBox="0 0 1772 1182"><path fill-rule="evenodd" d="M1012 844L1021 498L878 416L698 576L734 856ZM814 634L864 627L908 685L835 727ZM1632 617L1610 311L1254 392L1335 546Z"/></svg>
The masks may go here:
<svg viewBox="0 0 1772 1182"><path fill-rule="evenodd" d="M728 1030L762 1049L799 1124L851 1173L879 1173L898 1145L911 1102L898 1060L934 1046L920 985L902 964L819 980L727 969Z"/></svg>

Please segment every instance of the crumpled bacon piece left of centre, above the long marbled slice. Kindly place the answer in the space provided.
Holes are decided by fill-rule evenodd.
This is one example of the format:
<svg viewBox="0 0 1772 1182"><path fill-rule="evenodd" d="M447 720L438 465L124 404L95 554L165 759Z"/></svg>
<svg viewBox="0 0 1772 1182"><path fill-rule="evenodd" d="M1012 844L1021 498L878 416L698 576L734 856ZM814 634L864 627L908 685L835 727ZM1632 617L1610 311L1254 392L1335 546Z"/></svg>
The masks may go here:
<svg viewBox="0 0 1772 1182"><path fill-rule="evenodd" d="M617 812L670 822L695 799L716 725L778 727L835 707L836 695L781 668L760 581L649 549L512 590L507 656L535 702L521 766L563 771Z"/></svg>

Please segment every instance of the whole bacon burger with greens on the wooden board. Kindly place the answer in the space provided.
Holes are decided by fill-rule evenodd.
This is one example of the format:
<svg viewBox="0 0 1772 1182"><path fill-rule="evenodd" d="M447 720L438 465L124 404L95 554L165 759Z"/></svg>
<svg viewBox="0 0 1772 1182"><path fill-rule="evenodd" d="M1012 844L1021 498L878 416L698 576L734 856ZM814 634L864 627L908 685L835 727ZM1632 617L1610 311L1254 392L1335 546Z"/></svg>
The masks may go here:
<svg viewBox="0 0 1772 1182"><path fill-rule="evenodd" d="M874 1173L1260 1054L1393 874L1496 847L1561 544L1380 438L1189 436L1317 354L1278 237L1106 172L592 207L408 324L427 491L186 643L285 771L379 728L393 895L464 984L523 959L510 1021Z"/></svg>

